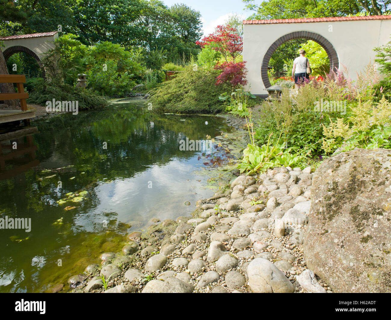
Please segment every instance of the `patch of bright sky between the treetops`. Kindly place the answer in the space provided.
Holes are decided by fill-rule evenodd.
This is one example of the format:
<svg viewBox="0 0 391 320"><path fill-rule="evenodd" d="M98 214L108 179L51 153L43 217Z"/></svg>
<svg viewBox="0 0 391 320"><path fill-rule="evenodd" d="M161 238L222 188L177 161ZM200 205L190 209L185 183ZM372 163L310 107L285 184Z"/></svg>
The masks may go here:
<svg viewBox="0 0 391 320"><path fill-rule="evenodd" d="M242 16L243 19L252 14L252 12L244 10L246 4L242 0L163 0L163 2L168 7L183 3L199 11L202 16L204 36L212 33L218 25L224 24L228 17L234 13Z"/></svg>

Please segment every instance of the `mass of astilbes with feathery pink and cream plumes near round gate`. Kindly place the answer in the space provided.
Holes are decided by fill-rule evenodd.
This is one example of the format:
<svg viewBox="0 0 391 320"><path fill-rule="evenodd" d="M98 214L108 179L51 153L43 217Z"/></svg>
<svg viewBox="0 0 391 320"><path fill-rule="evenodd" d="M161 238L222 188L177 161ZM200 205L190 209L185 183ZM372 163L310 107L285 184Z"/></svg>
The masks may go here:
<svg viewBox="0 0 391 320"><path fill-rule="evenodd" d="M380 135L391 116L391 104L385 98L373 99L378 75L373 65L353 82L349 75L338 71L328 75L323 84L312 80L292 95L283 90L280 102L264 102L263 111L255 130L255 139L264 144L271 134L274 145L280 131L285 148L293 152L309 150L312 156L328 155L335 150L351 148L386 147L389 136ZM315 104L321 100L342 102L346 110L319 112ZM381 120L378 120L381 119Z"/></svg>

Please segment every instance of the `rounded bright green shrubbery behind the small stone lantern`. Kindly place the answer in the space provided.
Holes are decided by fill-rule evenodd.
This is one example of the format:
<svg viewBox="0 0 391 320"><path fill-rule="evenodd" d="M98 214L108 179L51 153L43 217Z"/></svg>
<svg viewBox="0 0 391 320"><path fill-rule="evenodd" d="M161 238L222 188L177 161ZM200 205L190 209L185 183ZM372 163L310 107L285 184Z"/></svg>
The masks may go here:
<svg viewBox="0 0 391 320"><path fill-rule="evenodd" d="M108 96L124 95L142 78L140 49L127 51L109 41L87 47L76 38L65 34L54 41L54 49L42 61L50 75L74 85L77 74L86 73L89 88Z"/></svg>

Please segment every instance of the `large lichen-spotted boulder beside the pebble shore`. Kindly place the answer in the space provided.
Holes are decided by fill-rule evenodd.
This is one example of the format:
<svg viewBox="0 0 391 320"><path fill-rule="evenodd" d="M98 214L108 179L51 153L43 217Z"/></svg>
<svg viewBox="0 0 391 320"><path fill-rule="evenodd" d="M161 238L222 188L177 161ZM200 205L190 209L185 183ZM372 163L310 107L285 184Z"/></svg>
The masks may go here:
<svg viewBox="0 0 391 320"><path fill-rule="evenodd" d="M391 292L391 151L326 159L312 179L307 267L334 292Z"/></svg>

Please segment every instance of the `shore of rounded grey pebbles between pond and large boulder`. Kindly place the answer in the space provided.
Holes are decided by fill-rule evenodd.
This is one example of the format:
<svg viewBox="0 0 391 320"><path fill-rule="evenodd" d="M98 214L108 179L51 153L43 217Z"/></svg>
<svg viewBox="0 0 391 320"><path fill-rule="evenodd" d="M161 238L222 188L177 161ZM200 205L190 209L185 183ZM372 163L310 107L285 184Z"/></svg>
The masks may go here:
<svg viewBox="0 0 391 320"><path fill-rule="evenodd" d="M223 117L240 132L242 119ZM307 270L306 222L285 219L282 229L275 227L289 210L308 221L311 168L280 167L254 177L235 171L232 178L217 181L220 189L212 197L197 201L191 216L156 221L147 231L131 232L122 252L103 253L100 266L88 265L78 279L73 276L69 292L247 293L253 291L247 268L257 258L268 261L291 284L292 292L314 290L298 282ZM316 289L332 292L321 280Z"/></svg>

